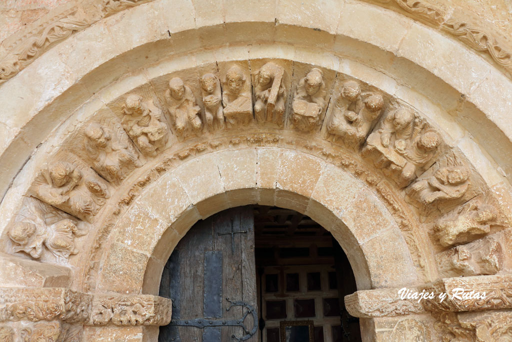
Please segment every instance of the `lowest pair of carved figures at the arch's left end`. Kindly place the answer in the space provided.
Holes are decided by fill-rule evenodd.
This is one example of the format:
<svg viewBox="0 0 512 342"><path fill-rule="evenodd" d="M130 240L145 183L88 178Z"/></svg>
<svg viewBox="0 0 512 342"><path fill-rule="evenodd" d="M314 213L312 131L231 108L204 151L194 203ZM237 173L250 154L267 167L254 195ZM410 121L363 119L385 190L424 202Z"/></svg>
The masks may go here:
<svg viewBox="0 0 512 342"><path fill-rule="evenodd" d="M32 222L19 222L7 232L14 243L14 252L24 251L34 259L38 259L41 257L44 245L58 261L66 261L71 254L78 252L74 238L84 234L86 232L79 230L71 219L60 220L49 227Z"/></svg>

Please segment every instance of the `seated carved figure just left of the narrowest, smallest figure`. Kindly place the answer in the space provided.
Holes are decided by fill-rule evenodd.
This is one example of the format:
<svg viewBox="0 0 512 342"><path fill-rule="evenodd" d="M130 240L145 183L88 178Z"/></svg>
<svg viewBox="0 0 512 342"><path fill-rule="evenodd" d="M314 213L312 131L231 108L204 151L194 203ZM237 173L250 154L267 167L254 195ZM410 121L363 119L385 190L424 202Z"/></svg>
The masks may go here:
<svg viewBox="0 0 512 342"><path fill-rule="evenodd" d="M196 97L182 79L174 77L169 81L169 89L165 92L165 99L170 115L176 127L176 135L185 137L191 132L201 132L202 121Z"/></svg>

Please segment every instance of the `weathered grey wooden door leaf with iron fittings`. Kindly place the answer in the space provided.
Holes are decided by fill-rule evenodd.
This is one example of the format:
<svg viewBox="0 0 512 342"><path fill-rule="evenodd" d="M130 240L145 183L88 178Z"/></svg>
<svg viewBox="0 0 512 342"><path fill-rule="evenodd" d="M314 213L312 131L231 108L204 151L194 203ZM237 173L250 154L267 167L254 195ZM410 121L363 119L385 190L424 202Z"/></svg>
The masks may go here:
<svg viewBox="0 0 512 342"><path fill-rule="evenodd" d="M173 316L159 341L257 342L255 277L251 207L198 222L162 274L160 296L173 300Z"/></svg>

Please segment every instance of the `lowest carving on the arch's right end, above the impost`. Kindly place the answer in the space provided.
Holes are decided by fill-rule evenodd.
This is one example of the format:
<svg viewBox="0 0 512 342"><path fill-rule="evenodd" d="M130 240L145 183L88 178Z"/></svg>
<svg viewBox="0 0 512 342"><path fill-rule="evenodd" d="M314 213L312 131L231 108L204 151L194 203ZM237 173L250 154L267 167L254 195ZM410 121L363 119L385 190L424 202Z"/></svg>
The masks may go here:
<svg viewBox="0 0 512 342"><path fill-rule="evenodd" d="M500 243L493 237L459 245L436 255L443 277L496 274L503 267Z"/></svg>

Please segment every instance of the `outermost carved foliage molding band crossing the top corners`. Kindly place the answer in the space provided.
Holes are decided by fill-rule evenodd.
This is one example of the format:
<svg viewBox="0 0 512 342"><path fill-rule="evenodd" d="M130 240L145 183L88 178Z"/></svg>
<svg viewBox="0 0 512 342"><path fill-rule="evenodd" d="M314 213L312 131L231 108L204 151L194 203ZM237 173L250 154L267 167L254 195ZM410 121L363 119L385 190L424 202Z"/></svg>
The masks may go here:
<svg viewBox="0 0 512 342"><path fill-rule="evenodd" d="M35 59L51 48L53 43L60 42L73 33L93 25L100 19L120 11L145 4L154 0L108 0L102 7L102 15L91 21L77 14L76 8L71 14L62 17L62 13L45 23L45 27L33 30L24 35L23 43L8 49L0 59L0 85L14 77ZM362 0L379 6L385 6L390 0ZM512 47L497 39L497 34L479 27L478 23L466 22L460 15L452 17L453 11L440 8L428 1L392 0L395 6L390 7L402 14L426 23L435 29L440 29L457 38L471 49L489 55L494 63L507 70L510 77L512 71ZM401 11L400 11L401 9ZM80 9L78 9L80 10ZM27 36L30 38L26 39Z"/></svg>

